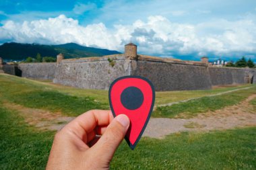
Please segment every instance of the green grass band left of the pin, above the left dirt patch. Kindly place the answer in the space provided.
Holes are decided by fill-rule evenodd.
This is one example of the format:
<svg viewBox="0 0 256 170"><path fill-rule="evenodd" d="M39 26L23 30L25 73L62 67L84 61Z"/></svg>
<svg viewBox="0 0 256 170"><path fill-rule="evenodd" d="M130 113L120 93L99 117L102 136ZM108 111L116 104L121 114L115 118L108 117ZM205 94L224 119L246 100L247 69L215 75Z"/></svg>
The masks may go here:
<svg viewBox="0 0 256 170"><path fill-rule="evenodd" d="M0 76L1 77L1 76ZM94 98L77 97L59 91L53 91L45 85L33 81L11 77L0 83L0 99L24 105L27 108L40 108L52 112L61 112L68 116L77 116L88 110L108 109L107 103Z"/></svg>

